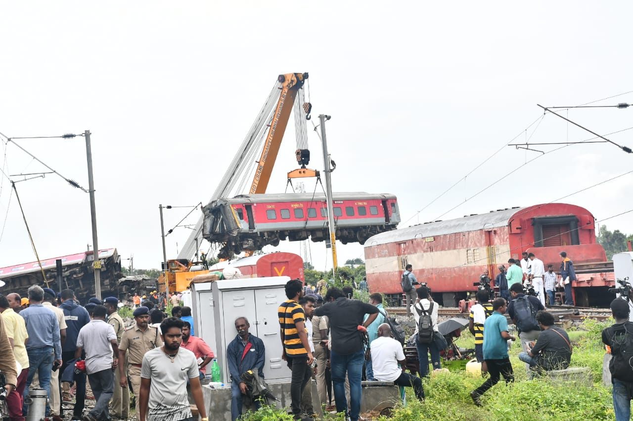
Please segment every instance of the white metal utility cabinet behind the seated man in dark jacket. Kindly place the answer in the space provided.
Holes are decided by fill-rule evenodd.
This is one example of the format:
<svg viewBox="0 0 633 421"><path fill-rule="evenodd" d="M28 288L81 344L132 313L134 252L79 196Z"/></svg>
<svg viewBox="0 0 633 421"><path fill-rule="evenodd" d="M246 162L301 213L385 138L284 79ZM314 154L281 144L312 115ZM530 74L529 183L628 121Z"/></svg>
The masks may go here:
<svg viewBox="0 0 633 421"><path fill-rule="evenodd" d="M282 360L277 308L287 298L289 276L223 279L192 285L196 334L211 346L222 370L222 381L230 383L227 346L237 336L235 319L246 317L249 333L260 338L266 348L266 381L291 379L291 370Z"/></svg>

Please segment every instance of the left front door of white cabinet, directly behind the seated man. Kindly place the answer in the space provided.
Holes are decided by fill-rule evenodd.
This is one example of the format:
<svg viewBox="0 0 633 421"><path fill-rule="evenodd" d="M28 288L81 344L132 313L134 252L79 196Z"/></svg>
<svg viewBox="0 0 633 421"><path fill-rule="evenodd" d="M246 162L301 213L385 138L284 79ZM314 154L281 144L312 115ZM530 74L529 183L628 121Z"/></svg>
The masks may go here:
<svg viewBox="0 0 633 421"><path fill-rule="evenodd" d="M249 332L254 334L255 336L259 336L256 333L256 328L254 326L254 321L256 320L256 305L253 305L253 303L253 290L223 291L222 314L224 319L224 341L222 346L224 353L226 352L229 343L233 339L235 339L235 336L237 336L237 331L235 330L235 319L237 319L237 317L246 317L246 319L248 319L249 323L251 324L251 329L249 329ZM225 361L222 361L220 363L222 364L223 372L227 375L225 375L222 380L225 384L229 384L229 367L227 366L226 358L224 358L224 360Z"/></svg>

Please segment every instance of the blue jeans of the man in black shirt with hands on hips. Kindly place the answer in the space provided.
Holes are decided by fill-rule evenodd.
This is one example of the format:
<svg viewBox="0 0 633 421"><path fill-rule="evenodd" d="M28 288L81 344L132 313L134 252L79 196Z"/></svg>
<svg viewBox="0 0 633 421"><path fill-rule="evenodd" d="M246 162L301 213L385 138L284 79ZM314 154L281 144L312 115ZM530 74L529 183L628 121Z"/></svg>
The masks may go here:
<svg viewBox="0 0 633 421"><path fill-rule="evenodd" d="M358 421L358 415L360 415L363 361L365 361L365 351L363 350L346 355L332 350L332 383L334 383L336 412L344 412L345 416L348 417L348 400L345 397L345 374L347 373L349 378L349 403L351 406L349 408L349 417L352 421Z"/></svg>

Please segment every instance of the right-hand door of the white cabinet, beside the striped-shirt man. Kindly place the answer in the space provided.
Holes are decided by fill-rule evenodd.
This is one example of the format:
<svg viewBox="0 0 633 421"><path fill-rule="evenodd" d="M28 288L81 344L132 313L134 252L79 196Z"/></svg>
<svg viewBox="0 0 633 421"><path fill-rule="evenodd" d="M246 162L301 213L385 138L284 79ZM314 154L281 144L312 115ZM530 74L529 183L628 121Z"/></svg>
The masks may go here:
<svg viewBox="0 0 633 421"><path fill-rule="evenodd" d="M284 288L266 288L255 290L256 326L255 335L264 341L266 348L266 364L264 377L266 380L291 377L286 362L281 359L282 344L279 333L279 317L277 308L285 298ZM253 323L251 322L251 331ZM254 333L254 331L253 331Z"/></svg>

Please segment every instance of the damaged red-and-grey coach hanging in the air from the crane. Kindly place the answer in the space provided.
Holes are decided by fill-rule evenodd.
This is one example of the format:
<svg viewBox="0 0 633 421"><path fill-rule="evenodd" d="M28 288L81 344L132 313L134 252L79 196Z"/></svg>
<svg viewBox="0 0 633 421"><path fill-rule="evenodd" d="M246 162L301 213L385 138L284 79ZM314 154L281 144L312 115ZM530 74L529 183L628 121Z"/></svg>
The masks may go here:
<svg viewBox="0 0 633 421"><path fill-rule="evenodd" d="M336 239L361 244L373 235L396 229L398 200L391 194L333 193ZM218 257L261 250L279 241L329 239L325 195L252 194L211 201L203 209L205 240L222 243Z"/></svg>

